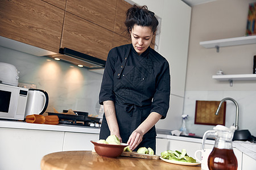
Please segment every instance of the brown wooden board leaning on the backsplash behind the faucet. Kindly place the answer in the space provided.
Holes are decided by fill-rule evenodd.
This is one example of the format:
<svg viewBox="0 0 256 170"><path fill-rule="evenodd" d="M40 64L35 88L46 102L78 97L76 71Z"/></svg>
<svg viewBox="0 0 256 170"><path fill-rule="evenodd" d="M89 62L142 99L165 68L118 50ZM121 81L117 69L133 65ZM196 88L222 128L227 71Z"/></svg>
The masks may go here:
<svg viewBox="0 0 256 170"><path fill-rule="evenodd" d="M226 101L221 105L220 112L216 116L219 104L220 101L196 100L195 124L225 126Z"/></svg>

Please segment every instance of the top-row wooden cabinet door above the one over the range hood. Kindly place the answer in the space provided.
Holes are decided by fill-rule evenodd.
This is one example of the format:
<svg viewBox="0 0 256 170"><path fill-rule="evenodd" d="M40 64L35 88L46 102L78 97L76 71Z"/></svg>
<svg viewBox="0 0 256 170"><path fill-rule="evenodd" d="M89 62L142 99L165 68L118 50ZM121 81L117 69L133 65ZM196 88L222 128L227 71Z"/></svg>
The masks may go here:
<svg viewBox="0 0 256 170"><path fill-rule="evenodd" d="M67 12L113 31L117 0L67 0Z"/></svg>

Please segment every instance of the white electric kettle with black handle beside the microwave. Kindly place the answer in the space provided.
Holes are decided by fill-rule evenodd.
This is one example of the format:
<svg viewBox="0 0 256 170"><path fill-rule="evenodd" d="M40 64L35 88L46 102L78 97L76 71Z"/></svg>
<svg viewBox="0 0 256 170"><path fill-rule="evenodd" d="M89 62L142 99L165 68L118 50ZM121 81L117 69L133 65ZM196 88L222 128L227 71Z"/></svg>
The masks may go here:
<svg viewBox="0 0 256 170"><path fill-rule="evenodd" d="M29 89L25 117L31 114L43 114L48 107L49 97L46 91Z"/></svg>

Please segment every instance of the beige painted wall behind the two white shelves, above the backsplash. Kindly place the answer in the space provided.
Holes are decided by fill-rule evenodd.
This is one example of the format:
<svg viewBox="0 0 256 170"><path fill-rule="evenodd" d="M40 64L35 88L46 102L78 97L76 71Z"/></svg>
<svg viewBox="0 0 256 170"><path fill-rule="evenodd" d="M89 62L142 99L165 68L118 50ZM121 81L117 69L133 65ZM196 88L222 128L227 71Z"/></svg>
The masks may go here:
<svg viewBox="0 0 256 170"><path fill-rule="evenodd" d="M186 90L256 90L255 82L220 83L212 75L252 74L256 44L206 49L200 41L245 35L249 3L255 0L213 1L192 7Z"/></svg>

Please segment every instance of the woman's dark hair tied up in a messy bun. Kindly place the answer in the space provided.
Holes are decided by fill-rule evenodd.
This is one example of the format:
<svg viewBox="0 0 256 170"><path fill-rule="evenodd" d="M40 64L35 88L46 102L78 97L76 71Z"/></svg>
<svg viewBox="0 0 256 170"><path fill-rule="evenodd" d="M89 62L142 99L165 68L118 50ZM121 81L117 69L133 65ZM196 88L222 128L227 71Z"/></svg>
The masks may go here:
<svg viewBox="0 0 256 170"><path fill-rule="evenodd" d="M155 13L147 10L147 6L133 5L126 11L125 25L129 32L134 25L137 24L142 27L150 27L152 32L156 32L158 27L158 20L155 17Z"/></svg>

